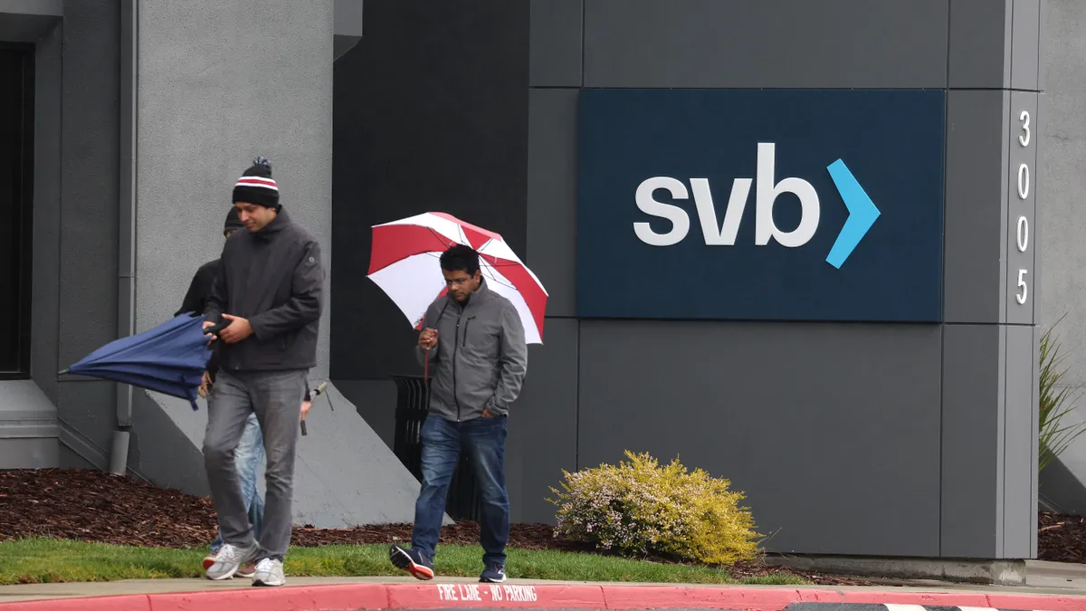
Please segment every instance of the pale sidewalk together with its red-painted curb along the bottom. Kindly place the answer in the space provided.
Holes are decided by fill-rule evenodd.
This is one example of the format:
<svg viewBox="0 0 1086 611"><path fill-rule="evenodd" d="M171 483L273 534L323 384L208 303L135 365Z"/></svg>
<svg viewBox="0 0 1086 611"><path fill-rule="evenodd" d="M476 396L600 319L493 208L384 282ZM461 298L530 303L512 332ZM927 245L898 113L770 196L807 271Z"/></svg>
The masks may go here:
<svg viewBox="0 0 1086 611"><path fill-rule="evenodd" d="M380 609L732 609L781 611L793 602L897 603L1031 611L1086 609L1086 568L1038 563L1027 587L717 586L472 578L289 577L280 588L249 579L141 579L0 587L2 611L353 611ZM915 584L915 582L914 582Z"/></svg>

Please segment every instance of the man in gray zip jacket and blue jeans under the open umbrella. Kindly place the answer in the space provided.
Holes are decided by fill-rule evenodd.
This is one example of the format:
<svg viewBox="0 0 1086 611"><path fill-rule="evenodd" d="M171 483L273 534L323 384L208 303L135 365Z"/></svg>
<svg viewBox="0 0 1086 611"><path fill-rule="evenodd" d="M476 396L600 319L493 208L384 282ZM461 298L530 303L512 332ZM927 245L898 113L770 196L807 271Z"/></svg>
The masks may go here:
<svg viewBox="0 0 1086 611"><path fill-rule="evenodd" d="M509 497L505 488L505 436L509 404L528 370L525 329L516 308L487 285L479 253L456 245L441 254L449 287L426 311L417 354L433 371L430 414L422 424L422 488L415 503L412 547L393 545L394 565L419 579L433 578L445 497L460 452L475 466L481 495L484 583L505 581Z"/></svg>

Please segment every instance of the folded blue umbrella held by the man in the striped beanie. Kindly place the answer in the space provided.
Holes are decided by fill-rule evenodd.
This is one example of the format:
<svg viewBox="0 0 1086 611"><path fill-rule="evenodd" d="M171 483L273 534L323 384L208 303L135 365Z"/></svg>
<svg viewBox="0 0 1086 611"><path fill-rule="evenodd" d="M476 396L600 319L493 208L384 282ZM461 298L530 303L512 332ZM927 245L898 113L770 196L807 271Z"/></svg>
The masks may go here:
<svg viewBox="0 0 1086 611"><path fill-rule="evenodd" d="M112 379L197 407L197 389L211 358L203 316L181 314L143 333L102 346L61 374Z"/></svg>

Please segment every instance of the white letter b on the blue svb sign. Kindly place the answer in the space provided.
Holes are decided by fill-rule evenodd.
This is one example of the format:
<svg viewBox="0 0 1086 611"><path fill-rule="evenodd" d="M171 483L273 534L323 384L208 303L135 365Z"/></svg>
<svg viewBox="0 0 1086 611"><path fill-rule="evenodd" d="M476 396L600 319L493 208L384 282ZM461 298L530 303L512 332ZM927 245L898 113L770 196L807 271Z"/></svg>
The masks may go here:
<svg viewBox="0 0 1086 611"><path fill-rule="evenodd" d="M807 244L815 237L818 229L819 208L818 192L815 187L803 178L788 177L776 183L776 145L772 142L758 144L757 192L755 196L755 238L758 246L766 246L770 238L781 246L796 248ZM799 198L799 225L791 232L782 232L773 223L773 203L782 194L793 194Z"/></svg>

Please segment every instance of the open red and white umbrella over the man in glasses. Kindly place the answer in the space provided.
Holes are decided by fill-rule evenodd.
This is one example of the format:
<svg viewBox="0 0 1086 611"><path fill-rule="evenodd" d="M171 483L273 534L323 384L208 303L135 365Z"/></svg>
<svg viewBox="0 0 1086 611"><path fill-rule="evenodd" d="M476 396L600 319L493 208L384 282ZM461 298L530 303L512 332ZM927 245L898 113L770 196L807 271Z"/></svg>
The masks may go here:
<svg viewBox="0 0 1086 611"><path fill-rule="evenodd" d="M444 212L374 226L367 277L420 329L426 309L449 292L438 258L463 244L479 253L479 267L491 290L507 298L520 314L528 344L543 344L546 289L502 236Z"/></svg>

